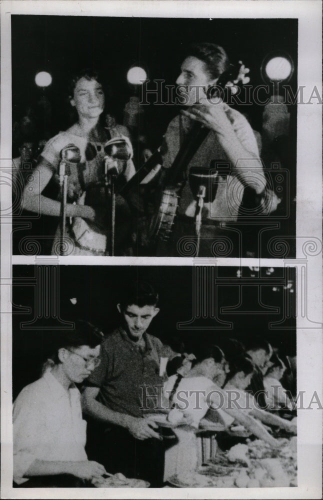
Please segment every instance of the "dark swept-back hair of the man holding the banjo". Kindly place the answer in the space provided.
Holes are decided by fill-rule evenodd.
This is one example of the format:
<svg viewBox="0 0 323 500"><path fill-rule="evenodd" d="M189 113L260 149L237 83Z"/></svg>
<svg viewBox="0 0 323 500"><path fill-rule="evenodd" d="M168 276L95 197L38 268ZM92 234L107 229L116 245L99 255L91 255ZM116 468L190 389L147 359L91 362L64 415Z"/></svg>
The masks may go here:
<svg viewBox="0 0 323 500"><path fill-rule="evenodd" d="M203 61L212 79L218 78L230 66L225 50L220 45L216 45L216 43L192 43L188 45L183 56L184 58L193 56Z"/></svg>

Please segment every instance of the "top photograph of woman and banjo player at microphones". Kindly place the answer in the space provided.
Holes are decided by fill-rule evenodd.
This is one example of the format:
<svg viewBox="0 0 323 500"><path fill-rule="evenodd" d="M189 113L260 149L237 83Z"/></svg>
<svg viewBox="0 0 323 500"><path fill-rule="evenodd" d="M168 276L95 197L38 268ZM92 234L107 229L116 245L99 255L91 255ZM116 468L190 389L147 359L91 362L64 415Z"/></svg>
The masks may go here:
<svg viewBox="0 0 323 500"><path fill-rule="evenodd" d="M294 257L297 40L288 18L11 15L12 254Z"/></svg>

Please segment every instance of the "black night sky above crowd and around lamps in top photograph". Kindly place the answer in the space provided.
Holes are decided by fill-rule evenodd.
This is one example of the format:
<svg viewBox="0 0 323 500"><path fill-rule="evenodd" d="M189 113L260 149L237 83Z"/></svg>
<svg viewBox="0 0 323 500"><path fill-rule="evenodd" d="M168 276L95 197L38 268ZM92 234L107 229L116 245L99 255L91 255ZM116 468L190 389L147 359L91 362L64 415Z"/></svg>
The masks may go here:
<svg viewBox="0 0 323 500"><path fill-rule="evenodd" d="M108 12L107 12L108 14ZM263 84L260 66L271 51L283 50L293 59L297 81L296 19L180 19L119 18L49 15L12 15L12 112L19 119L27 104L37 106L42 90L34 83L40 70L52 75L46 89L51 120L38 106L45 135L70 123L67 80L84 67L96 68L105 82L106 107L122 119L124 103L133 93L126 81L132 64L143 66L150 79L174 84L179 74L181 49L190 42L209 41L223 46L231 62L242 60L250 68L251 84ZM151 97L153 99L153 97ZM253 128L260 129L262 106L243 106ZM145 106L146 132L151 147L160 144L175 106ZM152 127L151 127L152 125Z"/></svg>

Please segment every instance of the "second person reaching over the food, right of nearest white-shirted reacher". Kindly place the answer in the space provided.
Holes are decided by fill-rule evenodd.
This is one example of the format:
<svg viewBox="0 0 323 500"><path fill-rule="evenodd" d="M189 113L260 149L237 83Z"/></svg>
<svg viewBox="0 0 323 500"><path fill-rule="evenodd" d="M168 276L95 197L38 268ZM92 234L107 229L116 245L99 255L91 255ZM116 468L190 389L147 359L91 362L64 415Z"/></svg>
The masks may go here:
<svg viewBox="0 0 323 500"><path fill-rule="evenodd" d="M241 356L230 361L230 372L223 391L228 395L231 393L232 405L267 425L274 425L296 434L297 428L294 423L261 409L252 394L245 390L250 383L253 369L254 365L247 357Z"/></svg>

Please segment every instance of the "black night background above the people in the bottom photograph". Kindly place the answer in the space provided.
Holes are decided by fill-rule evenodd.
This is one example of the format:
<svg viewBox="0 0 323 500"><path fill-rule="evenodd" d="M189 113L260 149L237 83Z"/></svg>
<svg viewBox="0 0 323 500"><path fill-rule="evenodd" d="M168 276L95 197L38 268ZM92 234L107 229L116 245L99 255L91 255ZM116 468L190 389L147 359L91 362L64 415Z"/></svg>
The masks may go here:
<svg viewBox="0 0 323 500"><path fill-rule="evenodd" d="M221 342L232 337L243 341L260 335L273 347L278 347L281 355L295 355L295 292L283 289L288 281L293 289L294 269L276 267L268 276L266 268L256 271L242 267L240 278L237 269L213 266L196 269L191 266L14 266L13 397L39 376L41 363L50 354L57 334L53 328L63 327L62 321L82 318L99 326L105 334L109 333L119 323L118 297L123 287L136 279L150 282L159 293L160 312L152 320L150 333L175 350L181 343L190 352L199 343L209 340ZM214 280L218 285L214 299L210 300L217 317L210 317L210 308L207 310L206 307L190 325L195 327L194 330L187 326L178 329L177 322L189 322L193 315L194 273L202 276L203 286L198 290L204 306L210 295L203 293L210 289ZM38 296L35 283L38 283ZM50 305L53 294L58 304L55 308ZM77 298L75 305L70 302L73 297ZM37 303L42 306L36 307ZM237 307L235 313L222 309L234 306ZM24 311L22 307L30 310ZM277 310L271 310L272 307ZM288 314L283 307L287 308ZM221 321L232 322L232 327L226 328ZM270 322L279 321L281 323L276 328L270 327ZM23 326L23 322L29 324Z"/></svg>

